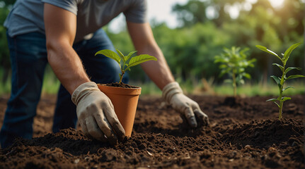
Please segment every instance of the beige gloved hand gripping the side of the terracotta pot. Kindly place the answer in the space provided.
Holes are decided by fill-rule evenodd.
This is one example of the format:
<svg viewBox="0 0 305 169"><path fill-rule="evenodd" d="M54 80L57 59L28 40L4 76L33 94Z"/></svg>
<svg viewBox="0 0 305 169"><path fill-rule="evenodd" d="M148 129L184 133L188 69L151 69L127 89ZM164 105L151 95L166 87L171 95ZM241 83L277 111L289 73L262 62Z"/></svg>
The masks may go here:
<svg viewBox="0 0 305 169"><path fill-rule="evenodd" d="M75 89L71 97L81 129L87 137L116 144L125 137L125 130L115 114L108 96L100 92L95 82L86 82Z"/></svg>

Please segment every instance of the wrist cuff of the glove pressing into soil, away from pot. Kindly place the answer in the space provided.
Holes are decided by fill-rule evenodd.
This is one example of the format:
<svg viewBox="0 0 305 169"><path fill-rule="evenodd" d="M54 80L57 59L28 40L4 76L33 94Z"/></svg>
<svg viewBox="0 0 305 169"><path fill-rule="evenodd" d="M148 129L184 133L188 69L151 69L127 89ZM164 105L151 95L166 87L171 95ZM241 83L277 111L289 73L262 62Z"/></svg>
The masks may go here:
<svg viewBox="0 0 305 169"><path fill-rule="evenodd" d="M162 98L166 101L166 104L171 103L171 98L175 94L183 94L183 91L178 82L171 82L166 84L166 86L162 89Z"/></svg>

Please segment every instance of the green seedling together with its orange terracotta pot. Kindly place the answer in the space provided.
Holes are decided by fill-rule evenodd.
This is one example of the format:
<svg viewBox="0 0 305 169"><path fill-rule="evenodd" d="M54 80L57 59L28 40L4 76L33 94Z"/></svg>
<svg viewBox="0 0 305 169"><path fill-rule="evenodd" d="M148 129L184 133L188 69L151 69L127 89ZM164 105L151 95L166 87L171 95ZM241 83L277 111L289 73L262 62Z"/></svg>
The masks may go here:
<svg viewBox="0 0 305 169"><path fill-rule="evenodd" d="M119 50L115 53L115 51L105 49L96 52L96 55L103 54L108 58L112 58L120 65L121 73L119 84L122 84L122 77L132 66L146 61L157 60L154 56L149 56L147 54L132 57L136 52L137 51L132 51L127 56L124 56ZM122 127L124 127L125 135L130 137L134 125L134 116L137 111L139 94L141 94L141 87L109 87L106 84L98 84L98 88L111 100L113 107L115 108L115 114L120 120Z"/></svg>

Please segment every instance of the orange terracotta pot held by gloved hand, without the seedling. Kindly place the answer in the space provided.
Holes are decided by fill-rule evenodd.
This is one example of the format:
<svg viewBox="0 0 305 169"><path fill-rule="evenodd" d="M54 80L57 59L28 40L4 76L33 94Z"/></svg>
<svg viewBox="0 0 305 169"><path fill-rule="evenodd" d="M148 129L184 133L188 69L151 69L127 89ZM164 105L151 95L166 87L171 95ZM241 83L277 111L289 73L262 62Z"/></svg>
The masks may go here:
<svg viewBox="0 0 305 169"><path fill-rule="evenodd" d="M130 137L132 135L132 127L134 126L134 116L137 111L141 87L108 87L105 84L98 84L98 88L113 102L117 118L119 118L120 123L125 129L125 135Z"/></svg>

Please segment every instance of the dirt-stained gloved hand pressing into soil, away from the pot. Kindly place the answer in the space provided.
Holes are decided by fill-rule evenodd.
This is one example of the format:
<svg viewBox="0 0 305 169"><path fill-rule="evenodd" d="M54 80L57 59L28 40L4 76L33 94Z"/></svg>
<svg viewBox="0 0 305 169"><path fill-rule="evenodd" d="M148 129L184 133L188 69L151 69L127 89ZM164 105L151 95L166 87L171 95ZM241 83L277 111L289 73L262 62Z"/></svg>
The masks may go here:
<svg viewBox="0 0 305 169"><path fill-rule="evenodd" d="M166 104L171 105L182 117L185 117L190 127L197 127L197 122L202 125L209 124L209 118L200 110L199 105L183 94L178 82L166 84L162 89L162 97ZM197 119L196 119L197 118Z"/></svg>

